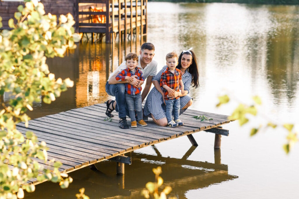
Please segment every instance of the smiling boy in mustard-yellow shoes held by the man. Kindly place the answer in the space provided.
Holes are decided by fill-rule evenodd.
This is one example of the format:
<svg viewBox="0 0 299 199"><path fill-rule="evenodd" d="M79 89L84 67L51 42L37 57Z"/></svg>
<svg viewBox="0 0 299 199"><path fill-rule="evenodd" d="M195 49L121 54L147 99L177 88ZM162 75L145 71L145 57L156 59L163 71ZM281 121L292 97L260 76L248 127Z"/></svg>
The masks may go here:
<svg viewBox="0 0 299 199"><path fill-rule="evenodd" d="M118 75L116 75L115 79L117 81L133 81L134 78L139 80L139 84L137 87L132 86L129 83L125 84L126 88L126 104L128 104L129 115L131 118L131 127L137 127L135 110L137 112L137 120L138 124L141 126L147 126L147 123L142 119L142 101L141 101L141 85L144 83L144 78L142 76L141 70L138 69L138 56L136 53L129 53L126 58L126 69L122 70Z"/></svg>

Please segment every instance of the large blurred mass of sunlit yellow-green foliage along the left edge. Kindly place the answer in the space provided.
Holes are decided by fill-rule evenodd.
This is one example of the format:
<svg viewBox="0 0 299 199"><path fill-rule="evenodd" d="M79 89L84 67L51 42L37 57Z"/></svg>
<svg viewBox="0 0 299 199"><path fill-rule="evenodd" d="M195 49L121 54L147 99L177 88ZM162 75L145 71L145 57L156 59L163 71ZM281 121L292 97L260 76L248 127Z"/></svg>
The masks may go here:
<svg viewBox="0 0 299 199"><path fill-rule="evenodd" d="M60 93L72 87L69 78L55 79L46 64L47 57L63 57L65 51L76 48L80 36L74 33L73 16L45 15L38 0L25 0L19 5L14 19L8 21L12 30L0 33L0 97L11 94L8 104L0 109L0 198L23 198L25 189L33 192L29 179L59 182L67 188L72 178L59 172L62 165L48 161L45 142L39 142L33 132L22 133L16 124L30 118L33 102L50 104ZM0 17L0 27L2 27Z"/></svg>

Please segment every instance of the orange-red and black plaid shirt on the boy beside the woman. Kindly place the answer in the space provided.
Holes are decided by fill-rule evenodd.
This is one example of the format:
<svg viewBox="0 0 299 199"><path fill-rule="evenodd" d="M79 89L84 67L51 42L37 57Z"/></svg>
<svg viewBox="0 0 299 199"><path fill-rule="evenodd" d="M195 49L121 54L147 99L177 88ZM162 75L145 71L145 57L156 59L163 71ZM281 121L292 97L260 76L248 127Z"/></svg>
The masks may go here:
<svg viewBox="0 0 299 199"><path fill-rule="evenodd" d="M179 91L179 86L180 86L180 80L182 79L182 72L181 70L177 69L175 70L174 74L170 72L169 68L167 67L165 72L162 73L161 75L161 80L160 80L160 86L162 87L163 85L167 85L171 89L175 91ZM168 92L166 89L162 87L162 91L164 92L164 99L169 100L167 97ZM176 97L176 99L179 99L180 97Z"/></svg>

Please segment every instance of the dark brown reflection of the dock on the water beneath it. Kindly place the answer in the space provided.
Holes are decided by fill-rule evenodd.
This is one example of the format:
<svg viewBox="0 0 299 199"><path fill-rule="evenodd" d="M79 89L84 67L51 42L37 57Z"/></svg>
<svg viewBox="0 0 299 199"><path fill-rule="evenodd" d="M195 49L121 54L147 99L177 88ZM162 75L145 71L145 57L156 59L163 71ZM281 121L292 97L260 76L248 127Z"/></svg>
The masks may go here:
<svg viewBox="0 0 299 199"><path fill-rule="evenodd" d="M53 183L43 183L30 198L73 198L70 192L86 185L86 194L90 198L142 198L140 192L145 188L148 181L154 181L155 176L152 168L161 166L161 177L164 179L164 186L171 186L172 195L178 198L185 198L185 193L191 189L205 188L216 183L230 181L238 178L228 174L228 165L221 164L220 149L215 149L215 163L191 161L188 157L196 147L191 146L182 158L163 157L155 146L152 147L155 155L132 152L126 154L132 156L132 164L126 165L125 175L115 175L115 162L104 161L97 163L99 171L92 171L88 168L80 169L72 173L73 183L68 193L65 190L54 187ZM53 188L53 195L43 195L43 187Z"/></svg>

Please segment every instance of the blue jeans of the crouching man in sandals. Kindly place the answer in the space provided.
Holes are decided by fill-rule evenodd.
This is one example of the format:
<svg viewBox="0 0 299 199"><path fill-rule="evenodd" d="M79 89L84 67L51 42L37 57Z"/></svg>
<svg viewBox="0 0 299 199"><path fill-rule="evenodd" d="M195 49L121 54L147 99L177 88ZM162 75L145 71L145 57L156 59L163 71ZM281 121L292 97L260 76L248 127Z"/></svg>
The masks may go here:
<svg viewBox="0 0 299 199"><path fill-rule="evenodd" d="M107 81L105 88L108 95L115 96L115 111L118 112L118 117L125 118L126 115L129 115L129 110L126 106L125 84L109 84Z"/></svg>

